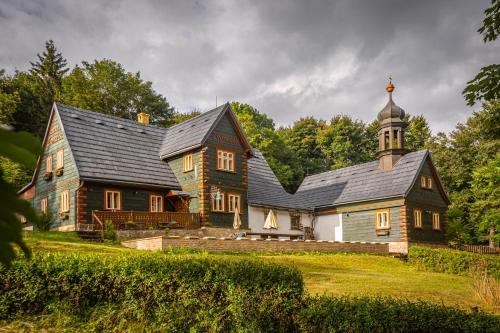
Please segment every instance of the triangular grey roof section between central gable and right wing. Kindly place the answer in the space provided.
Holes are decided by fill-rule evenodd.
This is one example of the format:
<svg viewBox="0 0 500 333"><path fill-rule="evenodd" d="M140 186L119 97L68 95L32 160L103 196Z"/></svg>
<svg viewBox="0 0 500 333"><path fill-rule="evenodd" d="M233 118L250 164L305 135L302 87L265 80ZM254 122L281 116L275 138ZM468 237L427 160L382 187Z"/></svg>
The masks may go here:
<svg viewBox="0 0 500 333"><path fill-rule="evenodd" d="M259 150L248 159L248 203L277 208L305 209L295 196L286 192Z"/></svg>

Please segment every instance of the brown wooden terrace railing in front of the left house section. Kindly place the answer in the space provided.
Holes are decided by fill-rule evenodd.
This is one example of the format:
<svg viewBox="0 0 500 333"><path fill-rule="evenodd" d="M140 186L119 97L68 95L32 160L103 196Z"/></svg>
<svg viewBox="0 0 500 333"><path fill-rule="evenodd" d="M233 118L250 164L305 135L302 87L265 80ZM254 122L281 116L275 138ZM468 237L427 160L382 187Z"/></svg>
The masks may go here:
<svg viewBox="0 0 500 333"><path fill-rule="evenodd" d="M103 228L106 221L111 221L115 230L196 229L200 227L200 214L183 212L92 211L92 222L94 225L97 223L100 228Z"/></svg>

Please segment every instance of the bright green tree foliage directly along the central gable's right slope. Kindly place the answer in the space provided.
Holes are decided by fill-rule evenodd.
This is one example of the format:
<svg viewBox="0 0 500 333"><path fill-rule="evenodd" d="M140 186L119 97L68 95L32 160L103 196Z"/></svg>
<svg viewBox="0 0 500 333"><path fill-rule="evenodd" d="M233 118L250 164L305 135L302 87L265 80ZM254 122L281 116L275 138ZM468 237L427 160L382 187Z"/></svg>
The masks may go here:
<svg viewBox="0 0 500 333"><path fill-rule="evenodd" d="M273 120L248 104L232 102L231 108L250 144L262 152L283 187L293 191L294 170L300 168L300 165L291 149L275 131Z"/></svg>

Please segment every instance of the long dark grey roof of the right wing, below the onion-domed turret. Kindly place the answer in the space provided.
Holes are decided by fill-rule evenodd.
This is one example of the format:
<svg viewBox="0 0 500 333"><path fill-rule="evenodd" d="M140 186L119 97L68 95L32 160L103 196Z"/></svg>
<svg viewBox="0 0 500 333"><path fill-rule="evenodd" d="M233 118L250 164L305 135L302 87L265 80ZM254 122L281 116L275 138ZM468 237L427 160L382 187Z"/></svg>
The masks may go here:
<svg viewBox="0 0 500 333"><path fill-rule="evenodd" d="M311 208L406 196L428 156L427 150L404 155L389 171L372 161L304 179L295 196Z"/></svg>

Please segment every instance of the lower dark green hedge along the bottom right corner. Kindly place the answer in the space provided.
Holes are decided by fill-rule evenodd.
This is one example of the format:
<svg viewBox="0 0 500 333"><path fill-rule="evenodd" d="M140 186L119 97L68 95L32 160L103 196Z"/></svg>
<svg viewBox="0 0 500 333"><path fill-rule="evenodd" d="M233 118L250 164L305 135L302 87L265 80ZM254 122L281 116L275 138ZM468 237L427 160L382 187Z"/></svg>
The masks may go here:
<svg viewBox="0 0 500 333"><path fill-rule="evenodd" d="M297 315L303 332L498 332L500 317L426 302L310 297Z"/></svg>

